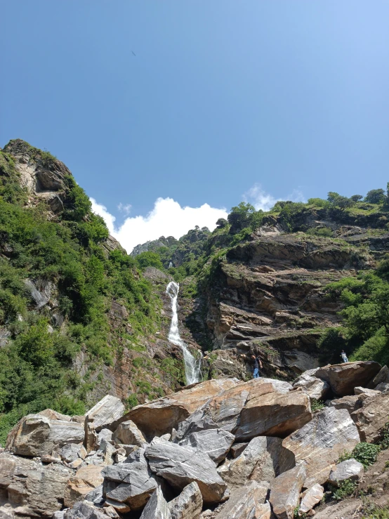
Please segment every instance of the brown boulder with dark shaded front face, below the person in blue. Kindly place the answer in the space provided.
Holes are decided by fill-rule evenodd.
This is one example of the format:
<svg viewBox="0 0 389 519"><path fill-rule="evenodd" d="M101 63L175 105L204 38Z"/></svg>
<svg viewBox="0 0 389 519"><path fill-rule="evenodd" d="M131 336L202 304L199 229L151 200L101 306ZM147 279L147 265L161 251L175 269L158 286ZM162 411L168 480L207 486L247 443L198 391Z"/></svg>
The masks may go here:
<svg viewBox="0 0 389 519"><path fill-rule="evenodd" d="M240 414L235 438L251 440L255 436L278 436L284 438L312 419L310 399L301 390L289 393L272 391L254 396L246 403Z"/></svg>

